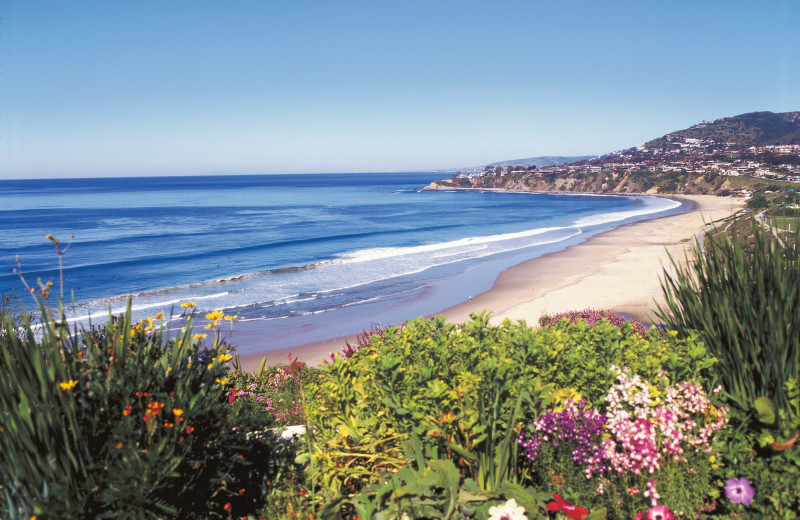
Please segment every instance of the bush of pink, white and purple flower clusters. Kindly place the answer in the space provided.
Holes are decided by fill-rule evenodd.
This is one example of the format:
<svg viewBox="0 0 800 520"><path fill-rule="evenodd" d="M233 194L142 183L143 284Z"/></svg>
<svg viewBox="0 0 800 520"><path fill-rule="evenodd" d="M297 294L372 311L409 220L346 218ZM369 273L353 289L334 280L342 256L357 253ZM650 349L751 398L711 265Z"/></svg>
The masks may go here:
<svg viewBox="0 0 800 520"><path fill-rule="evenodd" d="M713 492L710 479L716 432L727 421L699 385L654 383L619 369L598 409L568 401L563 410L537 418L519 443L549 493L576 492L580 503L605 508L611 518L632 518L661 504L693 517Z"/></svg>

